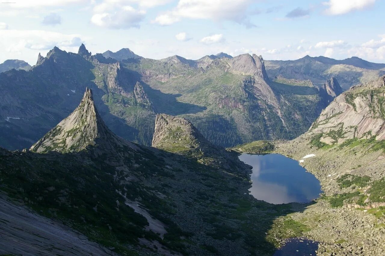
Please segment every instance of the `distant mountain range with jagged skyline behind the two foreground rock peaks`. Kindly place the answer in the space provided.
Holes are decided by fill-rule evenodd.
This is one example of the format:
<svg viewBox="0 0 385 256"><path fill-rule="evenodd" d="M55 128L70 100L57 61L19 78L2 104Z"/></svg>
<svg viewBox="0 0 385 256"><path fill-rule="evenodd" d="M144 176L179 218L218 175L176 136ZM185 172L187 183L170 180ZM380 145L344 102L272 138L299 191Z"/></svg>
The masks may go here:
<svg viewBox="0 0 385 256"><path fill-rule="evenodd" d="M286 70L293 63L302 65L303 59L277 62L280 68L273 69L274 61L249 54L153 60L129 49L92 55L84 45L77 54L54 47L46 57L39 54L30 71L0 73L0 146L30 147L69 115L87 86L94 90L95 104L107 126L143 145L151 144L157 113L188 118L211 143L223 147L291 139L305 132L341 92L336 88L335 93L323 93L322 84L331 77L343 87L341 81L359 82L383 72L365 69L359 76L358 72L350 76L351 72L330 71L320 76L315 71L319 65L330 70L346 64L330 66L315 58L304 59L311 68L299 68L303 72L298 78ZM311 80L301 80L305 78Z"/></svg>

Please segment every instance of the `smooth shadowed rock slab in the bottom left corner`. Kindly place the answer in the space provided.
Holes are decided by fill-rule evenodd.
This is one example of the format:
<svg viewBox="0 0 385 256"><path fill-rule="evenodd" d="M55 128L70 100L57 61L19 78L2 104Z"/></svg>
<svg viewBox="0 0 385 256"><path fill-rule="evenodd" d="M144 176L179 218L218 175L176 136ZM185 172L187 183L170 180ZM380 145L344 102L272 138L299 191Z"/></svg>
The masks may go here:
<svg viewBox="0 0 385 256"><path fill-rule="evenodd" d="M62 223L0 198L2 255L117 255ZM17 246L16 246L17 245ZM92 254L90 254L92 252Z"/></svg>

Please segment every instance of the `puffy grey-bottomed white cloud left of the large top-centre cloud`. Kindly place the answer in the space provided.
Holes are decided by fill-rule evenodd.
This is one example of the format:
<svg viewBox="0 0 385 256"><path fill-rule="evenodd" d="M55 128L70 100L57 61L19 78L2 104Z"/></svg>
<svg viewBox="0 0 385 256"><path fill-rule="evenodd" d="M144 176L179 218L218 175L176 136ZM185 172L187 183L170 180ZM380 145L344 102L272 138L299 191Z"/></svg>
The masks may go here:
<svg viewBox="0 0 385 256"><path fill-rule="evenodd" d="M91 22L99 27L110 29L128 29L139 27L146 12L137 10L130 5L122 5L122 1L114 3L103 2L94 7Z"/></svg>

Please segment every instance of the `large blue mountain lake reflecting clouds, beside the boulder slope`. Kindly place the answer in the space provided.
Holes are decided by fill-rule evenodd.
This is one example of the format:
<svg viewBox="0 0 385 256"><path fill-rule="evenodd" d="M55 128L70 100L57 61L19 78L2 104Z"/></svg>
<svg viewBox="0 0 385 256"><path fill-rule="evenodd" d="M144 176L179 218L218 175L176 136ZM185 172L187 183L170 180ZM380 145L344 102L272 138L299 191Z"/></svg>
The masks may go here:
<svg viewBox="0 0 385 256"><path fill-rule="evenodd" d="M248 155L239 159L253 166L250 194L271 204L310 202L318 198L320 182L294 159L280 154Z"/></svg>

